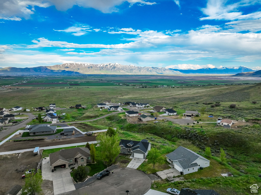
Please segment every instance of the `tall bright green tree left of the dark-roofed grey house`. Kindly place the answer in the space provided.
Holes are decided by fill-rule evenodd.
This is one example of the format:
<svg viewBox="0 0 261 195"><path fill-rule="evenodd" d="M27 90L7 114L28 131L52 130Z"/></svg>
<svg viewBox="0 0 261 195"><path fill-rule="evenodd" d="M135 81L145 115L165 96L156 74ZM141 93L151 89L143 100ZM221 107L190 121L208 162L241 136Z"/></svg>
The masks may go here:
<svg viewBox="0 0 261 195"><path fill-rule="evenodd" d="M118 135L112 137L100 134L96 137L99 142L99 151L97 151L97 160L102 160L108 165L115 163L116 157L120 154L120 141Z"/></svg>

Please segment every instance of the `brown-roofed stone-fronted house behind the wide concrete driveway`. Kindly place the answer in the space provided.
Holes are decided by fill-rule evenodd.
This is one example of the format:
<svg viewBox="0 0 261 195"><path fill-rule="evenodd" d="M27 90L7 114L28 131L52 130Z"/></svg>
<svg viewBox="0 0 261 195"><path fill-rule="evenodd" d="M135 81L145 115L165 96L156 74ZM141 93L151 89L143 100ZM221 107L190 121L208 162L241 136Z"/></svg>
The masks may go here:
<svg viewBox="0 0 261 195"><path fill-rule="evenodd" d="M71 148L61 149L58 152L49 154L50 167L55 169L55 166L65 165L69 168L71 165L84 166L91 162L90 150L88 148Z"/></svg>

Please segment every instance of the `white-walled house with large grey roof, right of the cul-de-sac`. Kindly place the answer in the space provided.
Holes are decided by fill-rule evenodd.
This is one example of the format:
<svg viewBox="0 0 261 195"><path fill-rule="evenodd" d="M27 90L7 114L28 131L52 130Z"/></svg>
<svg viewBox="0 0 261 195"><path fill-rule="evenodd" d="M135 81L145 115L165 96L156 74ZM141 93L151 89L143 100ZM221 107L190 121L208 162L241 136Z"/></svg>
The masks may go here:
<svg viewBox="0 0 261 195"><path fill-rule="evenodd" d="M167 154L166 157L167 161L183 175L196 172L200 167L208 167L210 163L210 160L182 146Z"/></svg>

